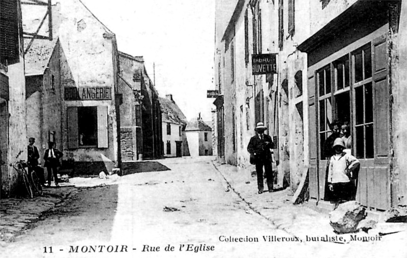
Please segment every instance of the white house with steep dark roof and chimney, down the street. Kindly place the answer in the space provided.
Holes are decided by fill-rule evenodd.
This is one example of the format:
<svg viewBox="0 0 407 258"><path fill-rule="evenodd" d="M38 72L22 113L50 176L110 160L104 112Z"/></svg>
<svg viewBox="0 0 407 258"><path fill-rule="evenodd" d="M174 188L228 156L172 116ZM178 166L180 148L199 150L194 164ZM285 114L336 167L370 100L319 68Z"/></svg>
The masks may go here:
<svg viewBox="0 0 407 258"><path fill-rule="evenodd" d="M162 114L162 139L164 157L189 156L188 142L185 136L186 117L172 95L159 98Z"/></svg>

